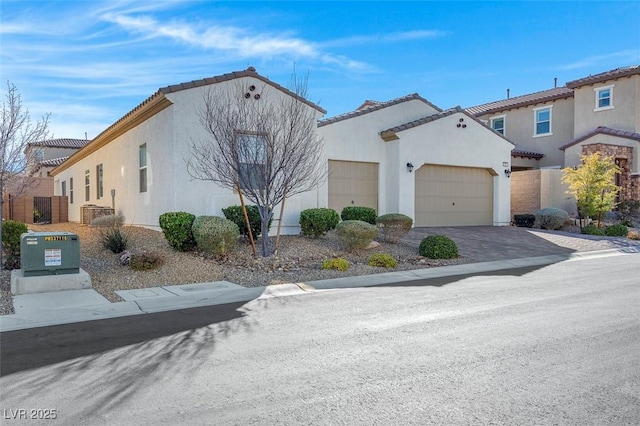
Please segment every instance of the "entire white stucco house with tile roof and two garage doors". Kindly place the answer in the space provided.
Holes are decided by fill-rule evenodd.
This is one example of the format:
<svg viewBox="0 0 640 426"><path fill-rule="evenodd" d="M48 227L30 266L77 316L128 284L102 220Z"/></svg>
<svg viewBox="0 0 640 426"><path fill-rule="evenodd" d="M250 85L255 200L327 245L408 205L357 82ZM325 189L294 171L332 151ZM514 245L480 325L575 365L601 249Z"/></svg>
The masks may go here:
<svg viewBox="0 0 640 426"><path fill-rule="evenodd" d="M51 171L55 193L68 196L69 220L80 222L85 205L111 206L112 193L127 223L156 229L164 212L221 215L239 204L233 191L191 179L185 165L190 141L208 137L198 113L204 91L238 84L268 93L262 100L296 97L318 120L326 113L251 67L161 88ZM314 131L328 179L287 199L283 217L274 209L283 233L299 232L304 209L345 205L404 213L417 226L509 224L513 145L460 108L441 111L409 95L369 102Z"/></svg>

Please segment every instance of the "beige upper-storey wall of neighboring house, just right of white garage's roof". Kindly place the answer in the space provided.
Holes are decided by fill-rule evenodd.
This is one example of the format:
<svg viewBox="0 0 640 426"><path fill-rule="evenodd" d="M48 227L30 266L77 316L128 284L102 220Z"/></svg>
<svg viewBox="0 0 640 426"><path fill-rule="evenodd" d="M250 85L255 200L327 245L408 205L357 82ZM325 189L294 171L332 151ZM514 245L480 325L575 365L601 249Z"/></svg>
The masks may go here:
<svg viewBox="0 0 640 426"><path fill-rule="evenodd" d="M552 135L535 137L534 109L545 106L553 106L551 109ZM487 114L479 118L490 120L499 115L505 115L505 137L516 144L516 149L545 154L538 160L538 167L564 167L564 155L559 148L573 140L573 99L558 99Z"/></svg>

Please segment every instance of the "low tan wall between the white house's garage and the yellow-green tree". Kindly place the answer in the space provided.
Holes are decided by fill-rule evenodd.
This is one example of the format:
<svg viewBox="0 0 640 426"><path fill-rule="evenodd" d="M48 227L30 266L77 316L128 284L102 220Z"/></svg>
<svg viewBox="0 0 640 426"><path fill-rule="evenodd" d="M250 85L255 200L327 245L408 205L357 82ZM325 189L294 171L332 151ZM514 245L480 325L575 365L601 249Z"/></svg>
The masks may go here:
<svg viewBox="0 0 640 426"><path fill-rule="evenodd" d="M562 170L524 170L511 174L511 217L515 214L535 213L545 207L577 213L575 199L566 193Z"/></svg>

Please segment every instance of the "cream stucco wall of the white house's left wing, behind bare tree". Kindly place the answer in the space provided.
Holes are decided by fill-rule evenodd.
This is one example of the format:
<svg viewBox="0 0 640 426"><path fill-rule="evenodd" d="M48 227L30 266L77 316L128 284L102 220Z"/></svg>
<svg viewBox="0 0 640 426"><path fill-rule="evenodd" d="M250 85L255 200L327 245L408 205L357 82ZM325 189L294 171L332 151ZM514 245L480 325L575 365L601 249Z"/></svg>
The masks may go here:
<svg viewBox="0 0 640 426"><path fill-rule="evenodd" d="M255 85L258 88L261 102L276 101L286 96L271 86L265 86L260 80L249 77L241 80L247 87ZM215 87L222 89L224 85L234 85L237 81L218 83ZM126 223L156 229L159 215L165 212L186 211L196 216L222 216L222 208L240 204L238 195L233 191L210 181L192 180L187 172L185 160L191 157L191 142L208 138L198 118L198 110L204 104L205 87L167 94L173 105L57 174L56 194L61 193L63 181L67 181L68 194L68 180L70 177L74 179L74 203L69 208L69 221L80 221L80 207L83 204L111 206L111 189L116 191L116 211L125 216ZM141 193L138 152L139 146L144 143L147 144L147 192ZM104 168L105 195L99 200L96 199L95 189L98 164L103 164ZM89 170L91 176L89 201L85 201L85 170ZM321 202L316 191L288 199L282 218L282 232L298 233L300 210L324 206ZM279 206L276 206L274 213L272 232L275 232L280 220Z"/></svg>

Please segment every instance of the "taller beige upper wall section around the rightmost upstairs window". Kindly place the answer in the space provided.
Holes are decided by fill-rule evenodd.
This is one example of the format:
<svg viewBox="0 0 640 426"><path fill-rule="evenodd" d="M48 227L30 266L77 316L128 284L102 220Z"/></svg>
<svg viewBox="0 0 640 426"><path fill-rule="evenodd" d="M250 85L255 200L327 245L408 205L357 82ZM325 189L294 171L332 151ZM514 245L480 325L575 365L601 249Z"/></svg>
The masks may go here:
<svg viewBox="0 0 640 426"><path fill-rule="evenodd" d="M612 109L595 110L594 89L613 86ZM592 132L598 126L616 130L640 130L640 76L634 75L576 88L574 139Z"/></svg>

